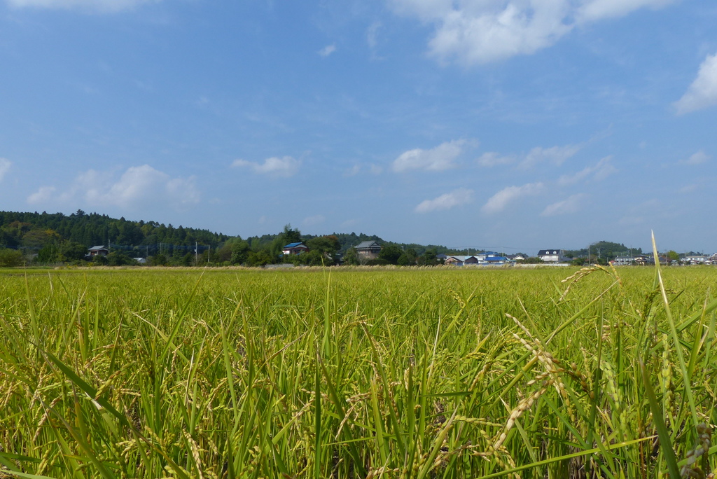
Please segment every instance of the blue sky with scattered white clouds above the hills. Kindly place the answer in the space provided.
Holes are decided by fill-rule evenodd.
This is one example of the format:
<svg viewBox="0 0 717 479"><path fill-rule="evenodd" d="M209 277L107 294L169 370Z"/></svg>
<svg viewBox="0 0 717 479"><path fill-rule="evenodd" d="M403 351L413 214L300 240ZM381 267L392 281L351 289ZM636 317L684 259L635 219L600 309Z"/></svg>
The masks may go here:
<svg viewBox="0 0 717 479"><path fill-rule="evenodd" d="M717 251L717 3L0 0L0 209Z"/></svg>

